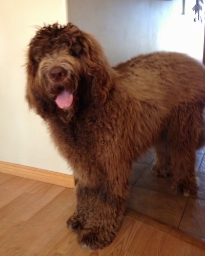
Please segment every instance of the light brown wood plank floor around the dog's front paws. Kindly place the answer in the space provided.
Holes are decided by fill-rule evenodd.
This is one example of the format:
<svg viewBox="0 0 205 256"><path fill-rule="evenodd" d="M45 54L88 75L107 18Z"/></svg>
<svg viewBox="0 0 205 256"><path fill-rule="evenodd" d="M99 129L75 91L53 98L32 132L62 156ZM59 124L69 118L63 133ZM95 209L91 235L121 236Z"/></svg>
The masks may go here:
<svg viewBox="0 0 205 256"><path fill-rule="evenodd" d="M0 173L0 255L205 255L202 246L129 216L110 246L81 249L66 227L75 204L73 189Z"/></svg>

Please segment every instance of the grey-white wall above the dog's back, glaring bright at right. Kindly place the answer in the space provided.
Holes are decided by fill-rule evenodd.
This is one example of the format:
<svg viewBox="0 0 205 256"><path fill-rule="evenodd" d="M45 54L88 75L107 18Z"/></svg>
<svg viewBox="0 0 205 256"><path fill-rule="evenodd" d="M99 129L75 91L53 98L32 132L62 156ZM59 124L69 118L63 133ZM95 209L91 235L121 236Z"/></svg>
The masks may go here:
<svg viewBox="0 0 205 256"><path fill-rule="evenodd" d="M94 34L113 65L158 50L202 60L204 25L193 22L195 0L186 1L190 15L181 15L182 0L68 0L68 5L69 21Z"/></svg>

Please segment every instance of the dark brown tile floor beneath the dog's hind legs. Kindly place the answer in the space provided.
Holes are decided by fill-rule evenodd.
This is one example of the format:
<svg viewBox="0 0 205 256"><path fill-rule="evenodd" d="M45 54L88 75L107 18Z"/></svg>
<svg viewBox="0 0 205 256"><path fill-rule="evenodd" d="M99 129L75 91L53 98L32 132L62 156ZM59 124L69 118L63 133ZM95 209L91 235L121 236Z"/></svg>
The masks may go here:
<svg viewBox="0 0 205 256"><path fill-rule="evenodd" d="M134 162L128 209L205 241L205 147L196 156L200 184L197 195L189 197L170 189L171 178L158 178L152 173L151 150Z"/></svg>

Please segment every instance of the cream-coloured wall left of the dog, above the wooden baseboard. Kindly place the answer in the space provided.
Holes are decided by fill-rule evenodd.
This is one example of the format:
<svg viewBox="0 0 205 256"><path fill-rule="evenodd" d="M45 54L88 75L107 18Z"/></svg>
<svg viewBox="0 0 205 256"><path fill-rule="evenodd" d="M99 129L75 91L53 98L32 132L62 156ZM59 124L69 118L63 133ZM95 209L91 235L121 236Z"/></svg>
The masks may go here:
<svg viewBox="0 0 205 256"><path fill-rule="evenodd" d="M25 101L25 51L35 25L67 23L65 0L0 1L0 160L70 173Z"/></svg>

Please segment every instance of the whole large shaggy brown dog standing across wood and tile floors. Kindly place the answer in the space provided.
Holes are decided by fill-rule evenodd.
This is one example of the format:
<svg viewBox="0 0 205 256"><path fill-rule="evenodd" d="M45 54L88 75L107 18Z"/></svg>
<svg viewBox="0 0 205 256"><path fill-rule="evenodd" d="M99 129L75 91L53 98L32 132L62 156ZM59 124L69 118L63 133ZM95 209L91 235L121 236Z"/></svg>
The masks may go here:
<svg viewBox="0 0 205 256"><path fill-rule="evenodd" d="M204 143L205 70L180 53L141 55L112 68L76 26L40 28L27 61L29 106L48 124L77 180L68 227L82 247L110 244L125 214L132 161L153 147L157 176L196 192L195 151ZM58 106L59 95L71 103Z"/></svg>

